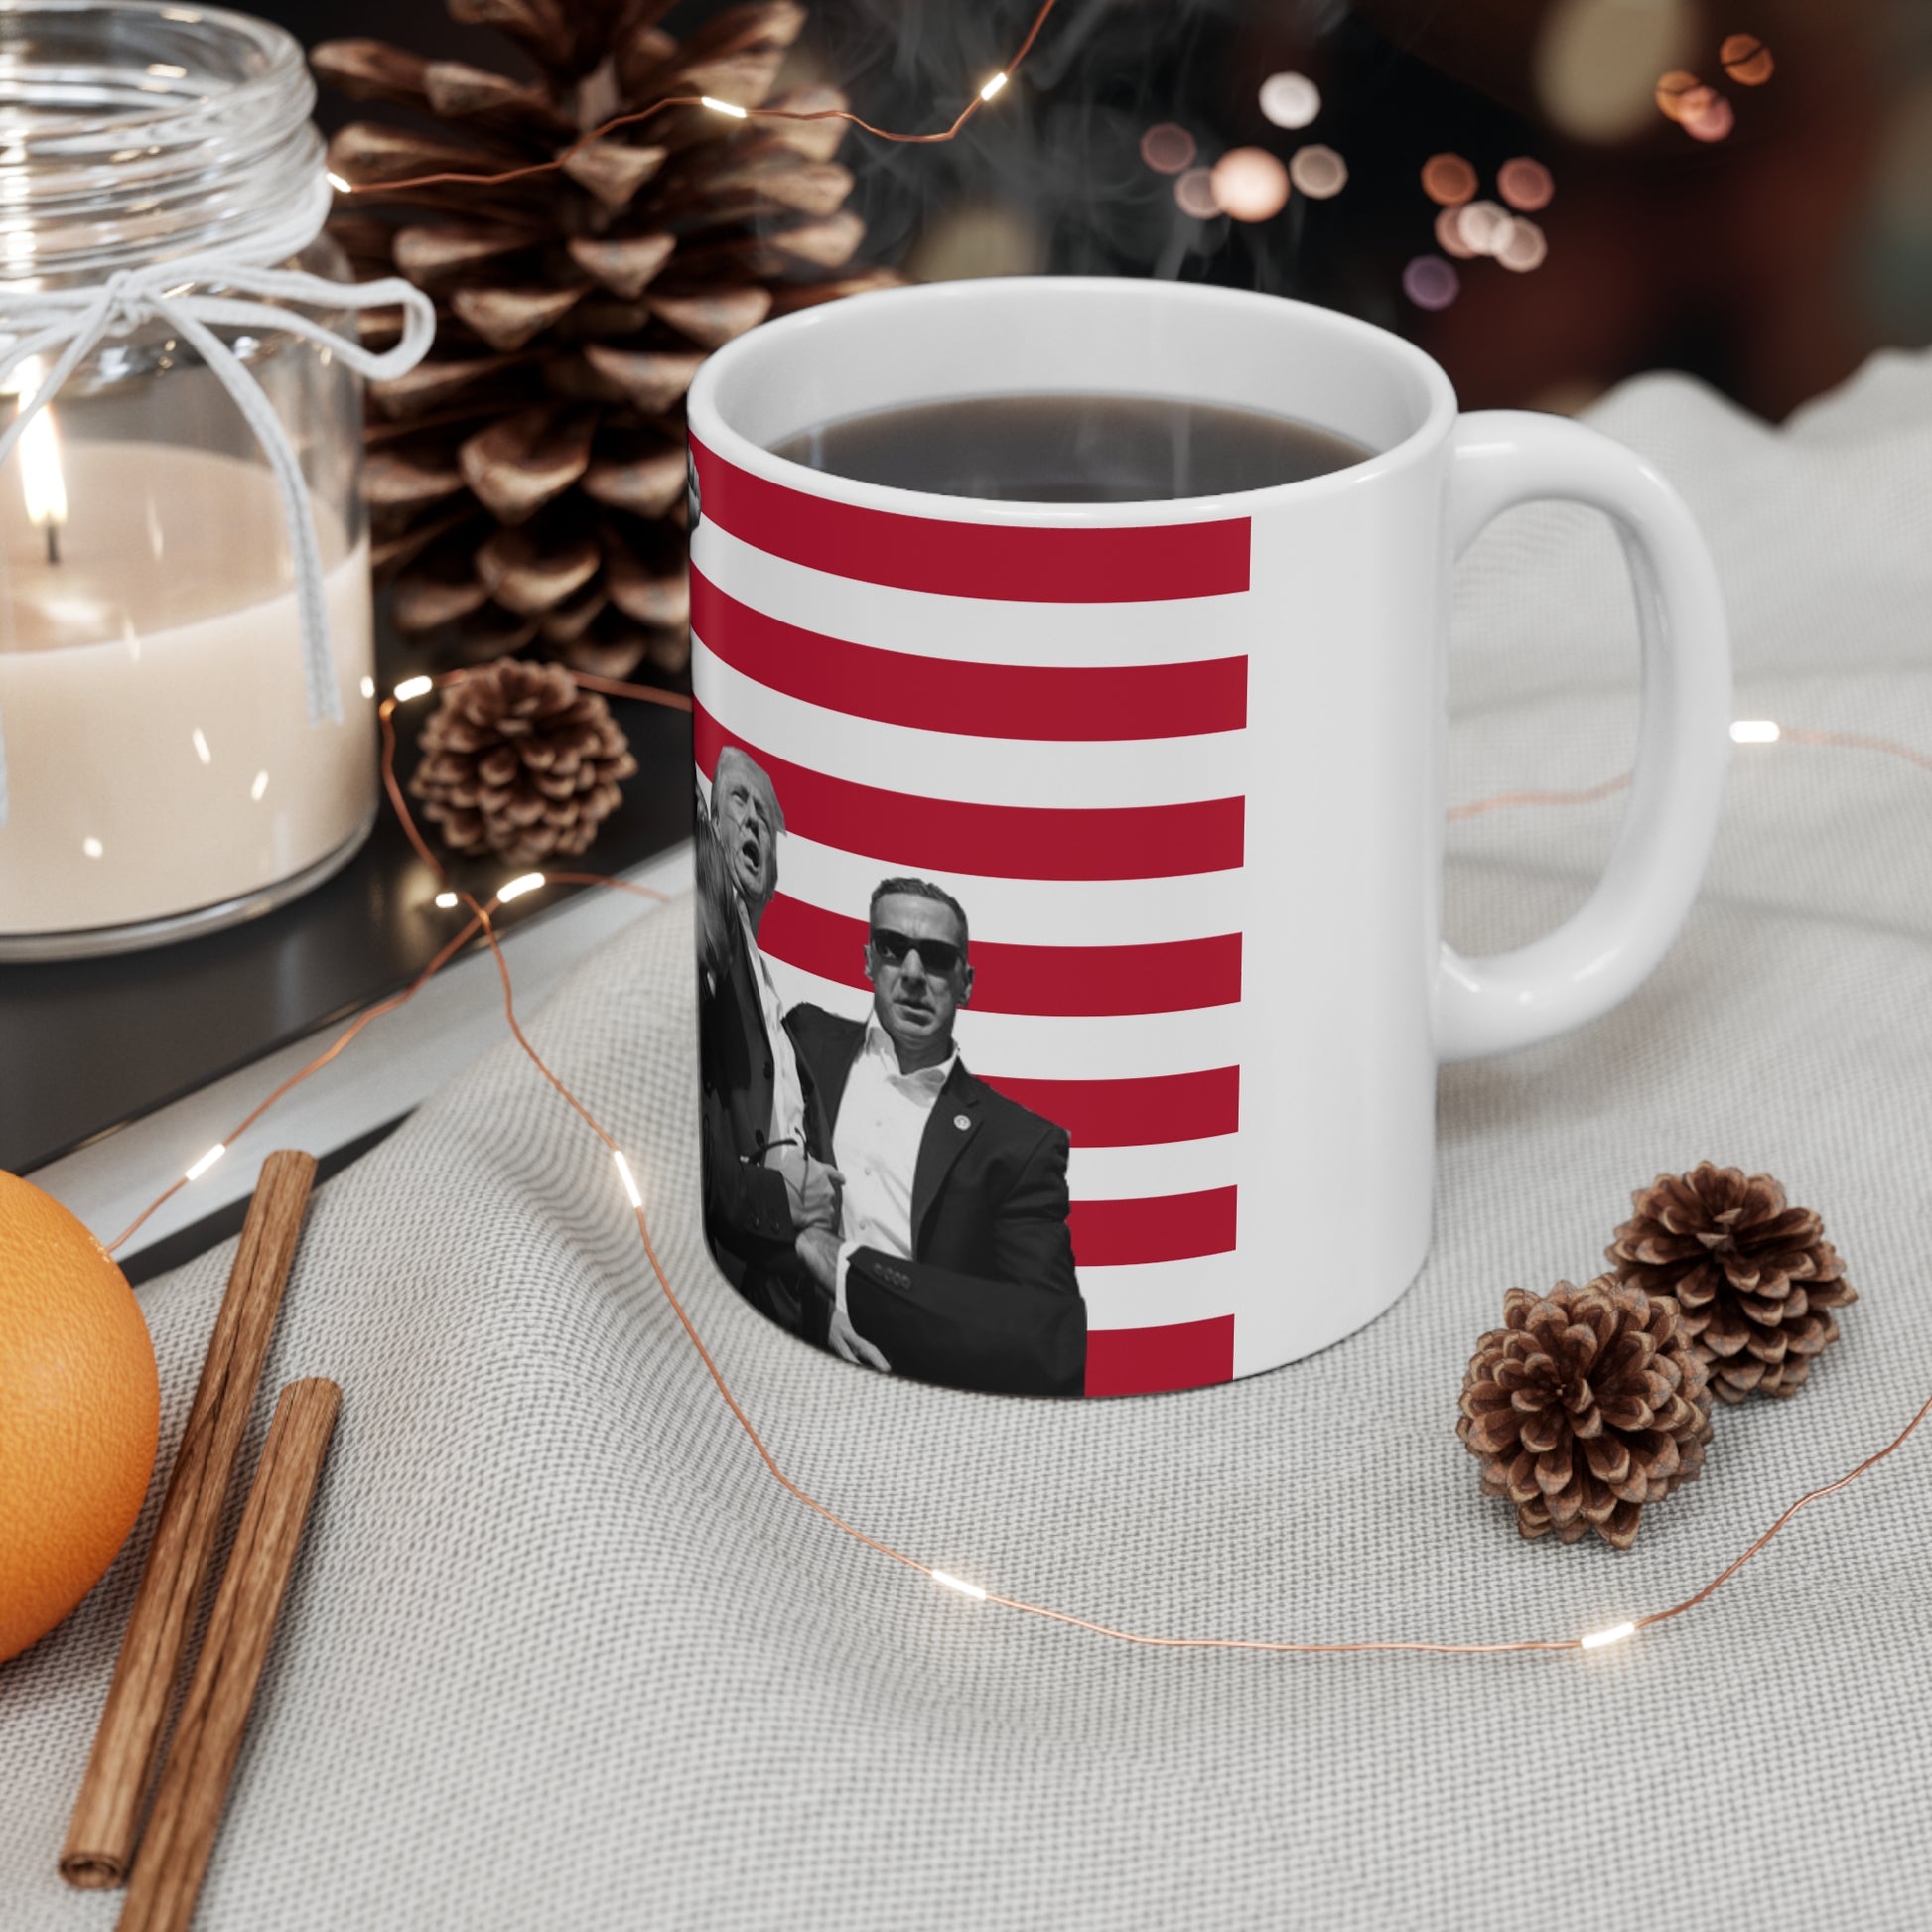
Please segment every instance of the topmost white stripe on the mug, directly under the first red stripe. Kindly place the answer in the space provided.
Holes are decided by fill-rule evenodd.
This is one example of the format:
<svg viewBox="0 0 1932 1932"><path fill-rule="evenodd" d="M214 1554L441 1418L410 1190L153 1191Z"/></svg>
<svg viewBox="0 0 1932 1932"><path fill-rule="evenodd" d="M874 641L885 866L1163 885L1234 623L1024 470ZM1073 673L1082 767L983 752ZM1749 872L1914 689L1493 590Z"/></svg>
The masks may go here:
<svg viewBox="0 0 1932 1932"><path fill-rule="evenodd" d="M1105 605L902 591L769 556L713 522L697 526L692 560L721 591L786 624L968 665L1192 665L1248 655L1285 630L1252 591Z"/></svg>

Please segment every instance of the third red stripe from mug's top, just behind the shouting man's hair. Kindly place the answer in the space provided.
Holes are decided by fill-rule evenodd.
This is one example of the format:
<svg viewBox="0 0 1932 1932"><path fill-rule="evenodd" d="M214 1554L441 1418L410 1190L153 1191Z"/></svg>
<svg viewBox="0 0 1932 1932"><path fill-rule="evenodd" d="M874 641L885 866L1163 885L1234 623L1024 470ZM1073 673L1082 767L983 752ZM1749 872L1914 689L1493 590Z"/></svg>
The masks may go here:
<svg viewBox="0 0 1932 1932"><path fill-rule="evenodd" d="M806 771L746 744L692 707L697 767L709 779L736 744L763 765L786 831L866 858L1001 879L1169 879L1240 864L1242 802L1186 806L962 806Z"/></svg>

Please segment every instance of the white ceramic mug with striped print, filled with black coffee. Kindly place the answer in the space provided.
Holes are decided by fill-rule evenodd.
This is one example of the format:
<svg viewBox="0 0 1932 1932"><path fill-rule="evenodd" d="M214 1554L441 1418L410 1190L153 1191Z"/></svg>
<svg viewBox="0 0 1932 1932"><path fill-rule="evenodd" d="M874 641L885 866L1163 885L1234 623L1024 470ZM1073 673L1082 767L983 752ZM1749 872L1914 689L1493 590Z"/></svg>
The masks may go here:
<svg viewBox="0 0 1932 1932"><path fill-rule="evenodd" d="M856 413L1076 390L1271 412L1374 454L1134 504L920 495L771 454ZM1679 497L1561 417L1459 415L1443 371L1366 323L1171 282L806 309L705 363L690 433L701 831L723 840L701 871L730 916L701 966L726 1273L840 1354L993 1389L1194 1387L1374 1320L1428 1250L1437 1065L1605 1012L1696 895L1729 651ZM1449 578L1536 498L1623 537L1636 775L1588 904L1463 958L1441 941ZM871 895L908 877L970 923L954 960L947 898L881 902L937 939L927 981L952 968L937 1095L867 1059L889 1045L864 1024ZM883 943L910 962L906 935ZM873 1184L854 1227L846 1175L835 1279L819 1242L817 1291L792 1277L788 1300L788 1244L827 1219L806 1150Z"/></svg>

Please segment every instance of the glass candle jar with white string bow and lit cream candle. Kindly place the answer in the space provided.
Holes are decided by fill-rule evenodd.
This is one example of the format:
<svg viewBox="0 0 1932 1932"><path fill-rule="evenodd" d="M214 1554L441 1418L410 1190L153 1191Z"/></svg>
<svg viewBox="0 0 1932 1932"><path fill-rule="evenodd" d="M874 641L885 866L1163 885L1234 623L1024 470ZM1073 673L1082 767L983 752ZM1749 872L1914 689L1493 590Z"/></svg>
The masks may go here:
<svg viewBox="0 0 1932 1932"><path fill-rule="evenodd" d="M0 958L251 918L346 864L375 821L361 379L342 344L278 327L259 290L216 272L346 278L319 234L313 102L296 41L242 14L0 10L0 348L33 336L33 292L112 299L193 265L162 294L209 298L299 462L315 531L298 580L301 491L278 481L232 373L187 340L193 323L122 301L0 468ZM226 296L253 315L216 317ZM6 379L0 429L58 359ZM334 703L305 680L317 612Z"/></svg>

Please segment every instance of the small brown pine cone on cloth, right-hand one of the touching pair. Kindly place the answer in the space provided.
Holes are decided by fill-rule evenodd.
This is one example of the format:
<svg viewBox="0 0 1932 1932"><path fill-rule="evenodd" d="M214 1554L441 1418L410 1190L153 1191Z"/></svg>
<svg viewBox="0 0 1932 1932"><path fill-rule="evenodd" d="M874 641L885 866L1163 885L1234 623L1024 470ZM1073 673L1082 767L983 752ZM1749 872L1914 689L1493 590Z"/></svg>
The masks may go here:
<svg viewBox="0 0 1932 1932"><path fill-rule="evenodd" d="M1631 1206L1605 1254L1619 1281L1675 1296L1712 1393L1803 1389L1812 1356L1837 1341L1832 1310L1859 1298L1818 1215L1787 1208L1770 1175L1710 1161L1658 1175Z"/></svg>

